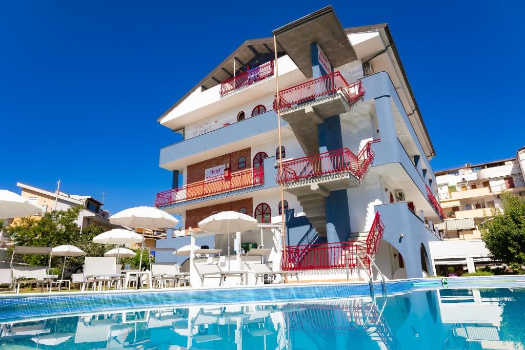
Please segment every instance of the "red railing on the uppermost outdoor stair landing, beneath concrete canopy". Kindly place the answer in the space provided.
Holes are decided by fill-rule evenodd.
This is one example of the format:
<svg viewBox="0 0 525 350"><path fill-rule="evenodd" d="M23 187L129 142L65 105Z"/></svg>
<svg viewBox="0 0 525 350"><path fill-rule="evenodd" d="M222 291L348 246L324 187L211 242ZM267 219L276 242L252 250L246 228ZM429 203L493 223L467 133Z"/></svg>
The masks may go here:
<svg viewBox="0 0 525 350"><path fill-rule="evenodd" d="M364 88L361 81L347 83L340 72L309 80L279 92L279 109L286 112L300 107L302 104L313 102L316 99L334 96L340 91L352 107L364 97ZM277 98L274 100L274 110L277 111Z"/></svg>

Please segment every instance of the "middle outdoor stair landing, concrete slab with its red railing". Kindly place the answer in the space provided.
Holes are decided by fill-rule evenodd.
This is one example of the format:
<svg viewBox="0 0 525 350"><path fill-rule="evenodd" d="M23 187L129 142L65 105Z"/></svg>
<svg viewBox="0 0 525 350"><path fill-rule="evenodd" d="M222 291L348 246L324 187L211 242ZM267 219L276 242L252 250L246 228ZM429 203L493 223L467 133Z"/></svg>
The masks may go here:
<svg viewBox="0 0 525 350"><path fill-rule="evenodd" d="M277 183L296 196L359 186L374 160L371 141L358 155L349 149L340 149L282 163Z"/></svg>

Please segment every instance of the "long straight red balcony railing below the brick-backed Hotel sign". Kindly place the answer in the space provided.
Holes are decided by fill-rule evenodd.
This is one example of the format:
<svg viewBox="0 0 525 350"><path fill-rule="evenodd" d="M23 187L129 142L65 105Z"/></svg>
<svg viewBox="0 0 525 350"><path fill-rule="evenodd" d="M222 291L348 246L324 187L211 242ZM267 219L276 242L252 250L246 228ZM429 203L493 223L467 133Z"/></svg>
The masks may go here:
<svg viewBox="0 0 525 350"><path fill-rule="evenodd" d="M155 199L155 207L259 185L264 185L264 167L262 166L233 173L228 177L199 181L160 192Z"/></svg>

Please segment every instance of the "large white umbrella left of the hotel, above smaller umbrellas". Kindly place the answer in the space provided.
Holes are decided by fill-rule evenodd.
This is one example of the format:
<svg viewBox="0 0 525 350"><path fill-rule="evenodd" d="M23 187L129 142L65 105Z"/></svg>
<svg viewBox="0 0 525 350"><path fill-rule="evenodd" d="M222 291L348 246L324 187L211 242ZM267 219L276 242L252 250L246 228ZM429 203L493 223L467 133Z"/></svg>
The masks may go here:
<svg viewBox="0 0 525 350"><path fill-rule="evenodd" d="M142 251L144 250L144 234L148 228L169 228L178 224L178 220L170 214L155 207L134 207L119 211L109 217L110 222L116 225L133 228L142 227L142 241L140 246L139 270L142 268Z"/></svg>

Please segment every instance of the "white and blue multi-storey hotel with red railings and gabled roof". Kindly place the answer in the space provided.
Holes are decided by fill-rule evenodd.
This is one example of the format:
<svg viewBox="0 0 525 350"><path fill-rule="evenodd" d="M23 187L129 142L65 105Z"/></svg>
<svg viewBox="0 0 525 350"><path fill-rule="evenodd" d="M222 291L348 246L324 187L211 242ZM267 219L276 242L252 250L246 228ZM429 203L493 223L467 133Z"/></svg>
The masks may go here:
<svg viewBox="0 0 525 350"><path fill-rule="evenodd" d="M274 39L247 40L158 119L183 140L161 149L173 184L155 205L182 217L182 236L223 210L279 235L285 210L287 249L302 260L324 245L341 261L338 242L358 240L388 278L421 277L442 222L428 162L435 152L388 26L342 28L329 6L273 34L283 172ZM182 245L168 238L163 247ZM262 240L278 269L280 239ZM214 245L225 248L224 238Z"/></svg>

